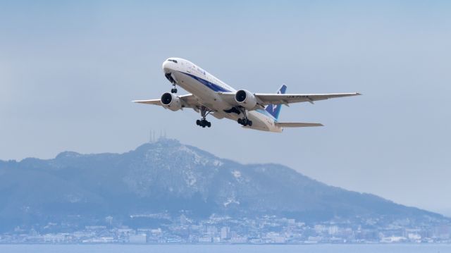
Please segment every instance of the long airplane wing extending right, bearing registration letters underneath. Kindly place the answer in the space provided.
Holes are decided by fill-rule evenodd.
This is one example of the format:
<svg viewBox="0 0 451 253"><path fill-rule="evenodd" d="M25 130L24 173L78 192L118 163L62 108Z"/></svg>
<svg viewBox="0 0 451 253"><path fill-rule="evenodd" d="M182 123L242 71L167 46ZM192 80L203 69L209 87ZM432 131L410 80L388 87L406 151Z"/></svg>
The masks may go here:
<svg viewBox="0 0 451 253"><path fill-rule="evenodd" d="M266 106L268 104L292 104L300 102L310 102L324 99L334 99L335 97L351 97L358 96L360 93L332 93L332 94L254 94L259 104Z"/></svg>

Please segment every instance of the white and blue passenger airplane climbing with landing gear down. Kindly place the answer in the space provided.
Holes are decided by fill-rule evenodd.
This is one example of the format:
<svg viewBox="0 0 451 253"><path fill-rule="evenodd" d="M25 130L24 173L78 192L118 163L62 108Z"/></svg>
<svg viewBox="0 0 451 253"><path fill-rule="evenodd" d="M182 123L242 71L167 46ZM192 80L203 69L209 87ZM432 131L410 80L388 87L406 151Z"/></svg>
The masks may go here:
<svg viewBox="0 0 451 253"><path fill-rule="evenodd" d="M282 105L332 99L335 97L357 96L360 93L335 94L285 94L282 85L274 94L252 93L248 90L235 90L214 75L183 58L168 58L163 62L163 73L171 82L171 93L163 93L160 99L135 100L135 103L163 106L171 111L191 108L200 113L196 124L202 128L211 127L206 120L210 113L218 119L228 118L237 121L242 128L268 132L282 132L283 128L323 126L321 123L283 123L278 121ZM177 95L177 85L190 92Z"/></svg>

